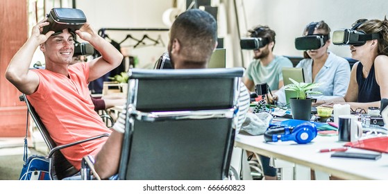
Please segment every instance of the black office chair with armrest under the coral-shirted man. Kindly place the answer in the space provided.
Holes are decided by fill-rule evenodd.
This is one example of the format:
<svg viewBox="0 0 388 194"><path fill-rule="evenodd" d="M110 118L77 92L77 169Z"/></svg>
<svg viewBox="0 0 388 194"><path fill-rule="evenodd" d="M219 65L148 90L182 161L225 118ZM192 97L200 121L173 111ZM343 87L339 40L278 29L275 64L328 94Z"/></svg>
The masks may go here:
<svg viewBox="0 0 388 194"><path fill-rule="evenodd" d="M37 129L40 131L40 134L42 134L44 142L49 148L49 154L46 157L47 159L50 159L50 176L53 180L64 179L65 177L71 177L78 173L78 170L76 170L76 168L74 168L74 166L71 165L67 159L65 159L65 157L62 155L62 152L58 152L59 150L83 143L85 141L91 141L94 139L99 139L103 136L109 136L109 134L101 134L99 136L93 136L82 141L76 141L74 143L57 146L53 139L51 139L51 136L40 120L40 117L35 112L34 107L28 102L26 95L20 95L19 100L26 103L28 113L31 115L31 118L33 118Z"/></svg>

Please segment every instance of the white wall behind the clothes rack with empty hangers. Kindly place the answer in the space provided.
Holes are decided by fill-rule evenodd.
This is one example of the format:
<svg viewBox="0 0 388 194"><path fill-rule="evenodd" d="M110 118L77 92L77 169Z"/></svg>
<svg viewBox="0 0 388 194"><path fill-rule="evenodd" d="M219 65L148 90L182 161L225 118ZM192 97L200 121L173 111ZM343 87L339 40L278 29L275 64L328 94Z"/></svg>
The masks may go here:
<svg viewBox="0 0 388 194"><path fill-rule="evenodd" d="M165 10L173 6L172 0L82 0L76 1L76 8L85 12L87 21L95 28L168 28L162 15ZM142 39L147 34L153 39L160 35L162 42L158 46L144 46L133 48L136 42L129 39L121 46L128 55L139 58L139 67L153 68L155 61L167 51L168 31L111 31L106 33L116 42L121 42L127 34ZM151 43L151 42L148 42Z"/></svg>

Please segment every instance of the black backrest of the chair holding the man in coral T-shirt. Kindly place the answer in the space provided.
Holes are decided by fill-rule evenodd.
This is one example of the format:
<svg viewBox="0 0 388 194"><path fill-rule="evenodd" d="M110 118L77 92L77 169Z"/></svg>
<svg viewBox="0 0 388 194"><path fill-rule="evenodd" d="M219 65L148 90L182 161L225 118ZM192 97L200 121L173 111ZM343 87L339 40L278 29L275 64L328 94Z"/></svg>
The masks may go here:
<svg viewBox="0 0 388 194"><path fill-rule="evenodd" d="M19 99L21 101L26 102L28 113L31 115L31 118L33 118L33 121L35 122L35 125L39 130L40 134L42 134L44 142L46 143L49 150L53 150L53 148L56 148L56 143L53 141L53 139L51 139L49 132L42 123L42 120L40 120L40 117L37 115L37 112L35 112L34 107L31 105L31 103L29 103L28 99L26 98L26 95L20 95ZM53 155L49 159L51 160L51 179L60 180L65 177L71 177L72 175L78 173L78 170L76 170L76 168L74 168L74 166L71 165L69 161L67 161L67 159L65 159L65 157L62 155L62 152L60 151L53 152Z"/></svg>

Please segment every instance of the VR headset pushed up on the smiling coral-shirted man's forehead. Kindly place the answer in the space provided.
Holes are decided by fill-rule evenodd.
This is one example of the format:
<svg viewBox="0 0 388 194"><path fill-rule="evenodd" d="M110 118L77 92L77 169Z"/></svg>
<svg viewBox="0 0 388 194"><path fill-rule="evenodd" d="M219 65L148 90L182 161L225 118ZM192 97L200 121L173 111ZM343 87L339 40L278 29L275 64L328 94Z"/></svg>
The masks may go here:
<svg viewBox="0 0 388 194"><path fill-rule="evenodd" d="M69 29L75 32L86 23L86 17L82 10L74 8L53 8L47 15L48 26L44 26L42 34L53 30L56 34L62 33L62 30Z"/></svg>

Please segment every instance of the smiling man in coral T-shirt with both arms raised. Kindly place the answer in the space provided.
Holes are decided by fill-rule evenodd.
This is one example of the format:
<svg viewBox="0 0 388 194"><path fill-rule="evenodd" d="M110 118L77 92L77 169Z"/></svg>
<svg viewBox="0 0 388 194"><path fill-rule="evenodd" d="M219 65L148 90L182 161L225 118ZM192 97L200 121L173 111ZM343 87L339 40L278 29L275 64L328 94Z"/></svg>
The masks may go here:
<svg viewBox="0 0 388 194"><path fill-rule="evenodd" d="M27 95L57 145L104 133L110 134L111 130L94 111L87 84L115 69L121 63L123 55L97 35L90 24L85 23L75 33L90 42L101 53L101 57L71 64L74 32L64 29L41 34L43 27L48 25L46 18L33 27L31 37L10 61L6 78ZM38 46L44 53L46 67L30 70L29 65ZM96 155L105 141L106 138L87 141L61 152L79 170L82 157Z"/></svg>

